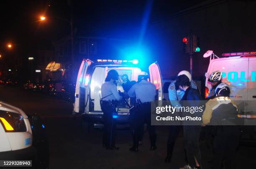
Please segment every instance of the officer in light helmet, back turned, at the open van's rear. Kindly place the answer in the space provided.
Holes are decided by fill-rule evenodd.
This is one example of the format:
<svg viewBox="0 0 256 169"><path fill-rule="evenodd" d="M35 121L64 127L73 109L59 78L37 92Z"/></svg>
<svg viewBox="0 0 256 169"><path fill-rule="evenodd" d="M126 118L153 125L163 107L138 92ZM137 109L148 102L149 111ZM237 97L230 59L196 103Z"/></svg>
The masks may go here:
<svg viewBox="0 0 256 169"><path fill-rule="evenodd" d="M156 131L155 127L151 125L151 102L156 96L156 86L148 82L148 74L141 72L138 75L138 83L133 85L128 91L130 97L136 97L137 109L134 117L135 130L133 134L133 147L130 151L138 152L138 138L141 136L141 127L144 122L147 123L149 138L151 142L151 150L156 149Z"/></svg>

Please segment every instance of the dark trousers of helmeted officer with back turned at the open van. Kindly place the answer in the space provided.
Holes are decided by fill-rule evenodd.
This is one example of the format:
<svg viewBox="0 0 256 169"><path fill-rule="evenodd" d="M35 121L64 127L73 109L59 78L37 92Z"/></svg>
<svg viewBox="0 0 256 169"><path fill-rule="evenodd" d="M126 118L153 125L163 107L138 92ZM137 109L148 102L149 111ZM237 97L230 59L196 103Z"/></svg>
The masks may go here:
<svg viewBox="0 0 256 169"><path fill-rule="evenodd" d="M137 107L137 111L134 116L134 135L133 135L133 146L138 146L139 138L143 134L144 123L147 124L149 133L149 139L151 147L156 146L156 130L155 126L151 125L151 104L145 103Z"/></svg>

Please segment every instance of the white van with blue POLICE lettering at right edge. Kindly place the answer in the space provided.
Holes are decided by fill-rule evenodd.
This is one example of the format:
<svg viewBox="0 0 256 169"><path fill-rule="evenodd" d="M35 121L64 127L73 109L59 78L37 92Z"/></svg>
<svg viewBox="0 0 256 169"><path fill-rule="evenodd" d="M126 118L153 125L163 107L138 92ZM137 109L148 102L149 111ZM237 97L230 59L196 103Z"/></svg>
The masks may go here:
<svg viewBox="0 0 256 169"><path fill-rule="evenodd" d="M210 64L205 74L205 97L211 88L209 75L219 70L223 82L230 86L230 97L240 103L240 117L256 118L256 52L223 53L222 58L208 50L204 57L210 57ZM254 122L255 123L255 122Z"/></svg>

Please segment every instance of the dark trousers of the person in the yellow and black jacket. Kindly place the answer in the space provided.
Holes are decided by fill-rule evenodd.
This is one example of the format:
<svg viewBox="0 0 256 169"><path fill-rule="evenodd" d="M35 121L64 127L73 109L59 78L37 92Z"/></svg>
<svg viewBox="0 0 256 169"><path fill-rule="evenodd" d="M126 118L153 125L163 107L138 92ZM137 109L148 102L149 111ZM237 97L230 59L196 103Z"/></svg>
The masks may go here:
<svg viewBox="0 0 256 169"><path fill-rule="evenodd" d="M213 147L215 150L213 168L220 169L222 161L225 169L236 168L236 149L239 144L240 130L237 126L220 126L214 137Z"/></svg>

